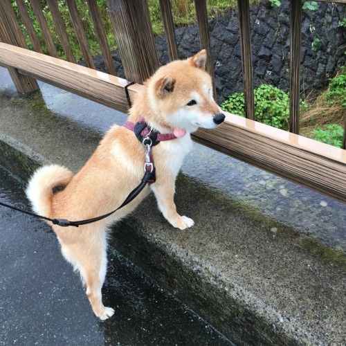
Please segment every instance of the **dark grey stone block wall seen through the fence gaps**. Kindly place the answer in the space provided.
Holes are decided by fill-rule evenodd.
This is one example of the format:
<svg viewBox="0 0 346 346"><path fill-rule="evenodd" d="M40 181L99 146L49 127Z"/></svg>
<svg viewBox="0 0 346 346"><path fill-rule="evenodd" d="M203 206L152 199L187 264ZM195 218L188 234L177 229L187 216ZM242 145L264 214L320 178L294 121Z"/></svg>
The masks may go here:
<svg viewBox="0 0 346 346"><path fill-rule="evenodd" d="M268 83L285 91L289 89L289 2L282 0L280 7L273 8L268 0L262 0L251 7L255 86ZM318 10L303 10L302 14L302 97L325 88L338 65L345 63L346 30L338 27L338 21L345 17L346 6L324 2L318 5ZM242 91L237 10L210 19L209 27L217 94L219 102L222 102L231 93ZM320 39L320 46L313 51L311 44L315 37ZM189 57L200 49L196 26L177 28L176 39L181 58ZM156 37L156 46L161 64L167 63L165 37ZM118 52L113 57L122 76Z"/></svg>

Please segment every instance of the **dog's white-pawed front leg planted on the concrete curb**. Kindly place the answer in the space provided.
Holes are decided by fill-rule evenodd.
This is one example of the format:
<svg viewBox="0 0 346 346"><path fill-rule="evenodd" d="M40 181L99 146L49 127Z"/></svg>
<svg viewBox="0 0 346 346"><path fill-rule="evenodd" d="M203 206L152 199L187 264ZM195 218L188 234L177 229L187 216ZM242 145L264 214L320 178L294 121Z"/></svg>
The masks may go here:
<svg viewBox="0 0 346 346"><path fill-rule="evenodd" d="M165 181L156 181L151 185L154 191L158 208L163 213L165 219L174 227L185 230L185 228L192 227L194 221L190 217L181 216L176 212L176 205L174 203L175 193L175 178L169 179L165 177Z"/></svg>

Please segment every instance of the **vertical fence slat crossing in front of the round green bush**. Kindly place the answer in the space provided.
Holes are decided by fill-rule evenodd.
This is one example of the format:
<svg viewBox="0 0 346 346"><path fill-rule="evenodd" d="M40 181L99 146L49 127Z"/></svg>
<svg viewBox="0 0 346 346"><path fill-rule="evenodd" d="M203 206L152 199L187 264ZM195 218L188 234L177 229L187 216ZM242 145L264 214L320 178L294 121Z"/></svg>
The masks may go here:
<svg viewBox="0 0 346 346"><path fill-rule="evenodd" d="M245 116L255 120L255 97L253 93L253 56L251 51L250 4L238 0L240 42L245 96Z"/></svg>

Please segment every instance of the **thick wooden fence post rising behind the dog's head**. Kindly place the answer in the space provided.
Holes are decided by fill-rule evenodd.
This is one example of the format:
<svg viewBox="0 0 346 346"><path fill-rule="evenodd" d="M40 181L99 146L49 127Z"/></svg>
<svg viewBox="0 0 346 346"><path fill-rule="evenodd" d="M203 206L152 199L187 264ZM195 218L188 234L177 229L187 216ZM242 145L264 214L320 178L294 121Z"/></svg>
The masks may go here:
<svg viewBox="0 0 346 346"><path fill-rule="evenodd" d="M144 82L158 69L146 0L107 0L127 80Z"/></svg>

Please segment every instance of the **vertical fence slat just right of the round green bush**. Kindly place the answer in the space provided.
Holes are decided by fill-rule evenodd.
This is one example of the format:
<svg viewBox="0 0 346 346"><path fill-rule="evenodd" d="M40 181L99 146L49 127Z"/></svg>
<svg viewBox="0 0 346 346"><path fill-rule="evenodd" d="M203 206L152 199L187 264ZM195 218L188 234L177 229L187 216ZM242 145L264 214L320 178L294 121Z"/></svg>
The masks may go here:
<svg viewBox="0 0 346 346"><path fill-rule="evenodd" d="M290 86L289 86L289 131L299 134L300 95L300 44L302 26L302 1L291 1L290 24Z"/></svg>

